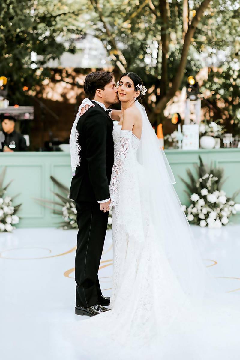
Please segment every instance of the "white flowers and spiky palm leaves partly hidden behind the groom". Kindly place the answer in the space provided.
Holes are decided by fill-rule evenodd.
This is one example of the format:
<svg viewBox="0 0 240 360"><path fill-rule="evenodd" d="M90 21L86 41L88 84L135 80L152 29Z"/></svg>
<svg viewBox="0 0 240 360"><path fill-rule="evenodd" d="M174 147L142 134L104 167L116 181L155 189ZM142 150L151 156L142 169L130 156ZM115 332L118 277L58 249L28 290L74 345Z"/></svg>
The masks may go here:
<svg viewBox="0 0 240 360"><path fill-rule="evenodd" d="M50 176L50 178L53 181L53 183L58 187L58 190L60 191L60 193L53 192L54 195L60 200L60 202L38 199L38 198L35 198L35 200L39 201L42 204L42 206L45 206L53 210L54 214L62 215L64 221L59 223L60 228L62 228L63 230L77 229L77 210L76 210L75 202L69 199L70 189L67 188L67 186L60 183L60 181L55 179L54 176ZM49 206L46 203L56 205L58 208ZM108 229L112 229L112 215L110 211L109 211L109 218L110 220L108 219Z"/></svg>

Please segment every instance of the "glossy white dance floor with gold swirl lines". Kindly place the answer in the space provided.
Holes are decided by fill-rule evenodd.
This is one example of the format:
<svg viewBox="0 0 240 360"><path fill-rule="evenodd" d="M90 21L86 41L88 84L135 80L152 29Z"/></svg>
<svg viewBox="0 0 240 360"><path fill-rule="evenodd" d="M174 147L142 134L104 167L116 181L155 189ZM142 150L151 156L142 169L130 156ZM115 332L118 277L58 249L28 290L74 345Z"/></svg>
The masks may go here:
<svg viewBox="0 0 240 360"><path fill-rule="evenodd" d="M240 225L192 229L211 273L224 291L240 296ZM69 323L75 332L76 322L86 320L74 315L76 236L75 230L52 228L0 234L1 359L84 360L61 335L64 324L71 337ZM111 294L112 258L108 231L99 270L105 296Z"/></svg>

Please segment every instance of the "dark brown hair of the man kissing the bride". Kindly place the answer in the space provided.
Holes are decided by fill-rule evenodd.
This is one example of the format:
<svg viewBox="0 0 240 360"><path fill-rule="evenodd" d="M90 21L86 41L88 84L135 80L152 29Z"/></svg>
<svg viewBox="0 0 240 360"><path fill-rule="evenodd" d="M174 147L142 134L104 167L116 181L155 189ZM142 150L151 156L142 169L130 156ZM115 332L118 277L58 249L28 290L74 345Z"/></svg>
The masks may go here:
<svg viewBox="0 0 240 360"><path fill-rule="evenodd" d="M113 72L94 71L85 78L83 89L89 99L93 99L98 89L104 90L104 87L113 80Z"/></svg>

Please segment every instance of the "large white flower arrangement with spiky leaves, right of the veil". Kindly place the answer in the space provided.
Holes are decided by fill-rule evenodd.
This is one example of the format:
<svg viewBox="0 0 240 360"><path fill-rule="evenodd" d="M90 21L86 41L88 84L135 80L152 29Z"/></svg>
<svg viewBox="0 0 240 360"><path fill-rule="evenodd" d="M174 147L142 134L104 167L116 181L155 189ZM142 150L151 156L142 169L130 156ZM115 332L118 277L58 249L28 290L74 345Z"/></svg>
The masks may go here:
<svg viewBox="0 0 240 360"><path fill-rule="evenodd" d="M202 228L221 228L222 225L227 225L232 214L236 214L234 198L240 191L228 198L221 190L223 170L216 168L207 171L201 158L197 170L197 180L191 171L187 170L190 184L181 178L191 192L188 193L191 204L189 207L182 206L182 210L186 213L187 220L193 224Z"/></svg>

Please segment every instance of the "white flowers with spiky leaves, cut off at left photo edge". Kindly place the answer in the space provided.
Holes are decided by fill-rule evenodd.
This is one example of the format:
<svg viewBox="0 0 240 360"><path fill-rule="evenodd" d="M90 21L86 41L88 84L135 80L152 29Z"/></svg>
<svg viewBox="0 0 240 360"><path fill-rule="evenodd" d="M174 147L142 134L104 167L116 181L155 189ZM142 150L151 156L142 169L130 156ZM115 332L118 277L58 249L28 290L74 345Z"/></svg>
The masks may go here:
<svg viewBox="0 0 240 360"><path fill-rule="evenodd" d="M6 190L13 180L3 187L4 178L6 174L6 167L0 173L0 232L7 231L11 233L15 227L13 225L18 224L19 217L16 215L21 204L13 206L13 200L19 195L14 197L6 196Z"/></svg>

